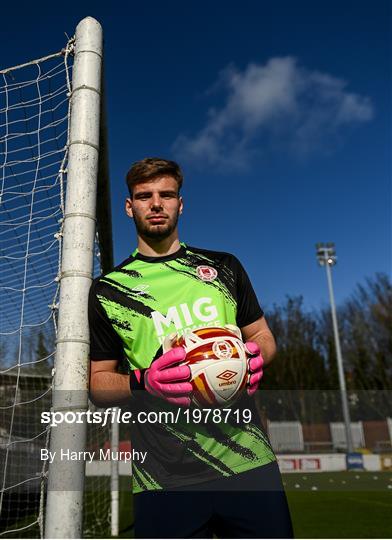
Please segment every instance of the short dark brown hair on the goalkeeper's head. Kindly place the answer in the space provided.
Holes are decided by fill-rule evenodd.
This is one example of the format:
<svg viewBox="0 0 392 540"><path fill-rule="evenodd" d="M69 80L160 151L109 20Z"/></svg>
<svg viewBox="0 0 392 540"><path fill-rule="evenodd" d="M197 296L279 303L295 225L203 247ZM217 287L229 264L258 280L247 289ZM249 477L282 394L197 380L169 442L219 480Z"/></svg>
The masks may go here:
<svg viewBox="0 0 392 540"><path fill-rule="evenodd" d="M136 184L154 180L158 176L172 176L180 191L184 177L178 163L163 158L144 158L133 163L127 172L126 182L130 196L132 197Z"/></svg>

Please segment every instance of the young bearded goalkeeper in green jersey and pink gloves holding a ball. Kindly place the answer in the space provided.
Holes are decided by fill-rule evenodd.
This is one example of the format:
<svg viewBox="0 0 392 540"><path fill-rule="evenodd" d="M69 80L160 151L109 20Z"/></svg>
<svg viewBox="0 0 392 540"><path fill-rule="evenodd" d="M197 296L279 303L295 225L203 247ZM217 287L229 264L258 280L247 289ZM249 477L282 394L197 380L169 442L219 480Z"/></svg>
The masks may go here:
<svg viewBox="0 0 392 540"><path fill-rule="evenodd" d="M249 353L249 386L220 423L131 424L135 534L139 538L292 537L276 458L255 404L262 366L275 354L249 278L231 254L179 241L183 211L179 166L160 158L135 163L127 174L125 209L138 247L94 280L89 299L90 391L101 405L127 403L145 412L189 407L192 385L185 351L163 352L173 331L234 324ZM130 375L118 372L123 358Z"/></svg>

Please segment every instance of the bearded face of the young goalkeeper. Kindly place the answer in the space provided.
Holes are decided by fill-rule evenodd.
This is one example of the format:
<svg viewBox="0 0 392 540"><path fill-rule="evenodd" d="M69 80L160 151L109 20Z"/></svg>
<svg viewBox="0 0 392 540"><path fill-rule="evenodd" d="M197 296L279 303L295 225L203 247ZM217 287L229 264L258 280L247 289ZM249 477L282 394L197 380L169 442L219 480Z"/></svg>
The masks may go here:
<svg viewBox="0 0 392 540"><path fill-rule="evenodd" d="M135 221L141 237L156 240L167 238L177 226L183 208L178 196L178 184L171 176L159 176L133 188L125 210Z"/></svg>

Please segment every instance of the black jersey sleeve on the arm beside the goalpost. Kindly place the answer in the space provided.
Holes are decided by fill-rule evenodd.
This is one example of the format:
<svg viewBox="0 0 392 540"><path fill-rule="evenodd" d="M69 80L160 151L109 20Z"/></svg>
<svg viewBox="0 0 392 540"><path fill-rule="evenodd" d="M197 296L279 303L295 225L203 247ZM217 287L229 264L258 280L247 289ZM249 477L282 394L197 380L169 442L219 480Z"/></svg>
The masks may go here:
<svg viewBox="0 0 392 540"><path fill-rule="evenodd" d="M122 360L124 357L120 336L97 297L97 281L93 281L88 299L88 322L90 327L90 359Z"/></svg>

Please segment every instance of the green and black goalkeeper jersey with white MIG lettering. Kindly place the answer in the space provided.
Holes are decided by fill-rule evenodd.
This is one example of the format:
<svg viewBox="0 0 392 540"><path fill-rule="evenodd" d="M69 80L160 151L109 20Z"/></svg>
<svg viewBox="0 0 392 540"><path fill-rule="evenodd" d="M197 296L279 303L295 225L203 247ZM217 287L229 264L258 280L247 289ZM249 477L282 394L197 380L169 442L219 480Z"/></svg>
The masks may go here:
<svg viewBox="0 0 392 540"><path fill-rule="evenodd" d="M241 328L262 316L249 278L233 255L185 244L165 257L136 250L92 284L90 356L125 356L131 370L147 368L162 354L168 334L229 323ZM131 401L144 411L176 409L143 394ZM252 421L229 415L225 422L196 423L180 415L176 423L131 424L133 449L147 452L143 464L133 463L134 492L198 484L274 461L254 399L246 395L232 408L250 409Z"/></svg>

